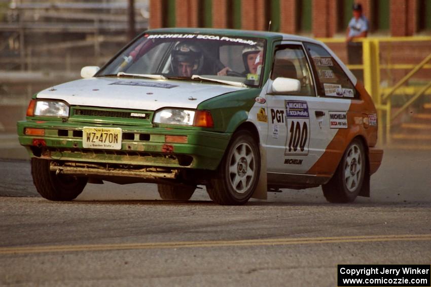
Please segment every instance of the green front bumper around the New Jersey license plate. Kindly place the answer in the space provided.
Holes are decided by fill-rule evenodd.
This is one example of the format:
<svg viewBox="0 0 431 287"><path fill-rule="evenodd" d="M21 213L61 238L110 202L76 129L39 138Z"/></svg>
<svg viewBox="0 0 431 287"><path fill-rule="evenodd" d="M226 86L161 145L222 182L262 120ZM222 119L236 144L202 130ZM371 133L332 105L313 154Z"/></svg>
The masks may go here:
<svg viewBox="0 0 431 287"><path fill-rule="evenodd" d="M165 168L217 169L229 143L230 133L199 129L109 126L121 128L121 150L83 148L84 126L106 127L88 123L60 121L19 121L19 142L31 157L58 161L115 163ZM24 135L25 128L44 129L44 136ZM141 136L143 135L143 136ZM166 142L165 136L187 136L187 143ZM42 141L43 140L43 141Z"/></svg>

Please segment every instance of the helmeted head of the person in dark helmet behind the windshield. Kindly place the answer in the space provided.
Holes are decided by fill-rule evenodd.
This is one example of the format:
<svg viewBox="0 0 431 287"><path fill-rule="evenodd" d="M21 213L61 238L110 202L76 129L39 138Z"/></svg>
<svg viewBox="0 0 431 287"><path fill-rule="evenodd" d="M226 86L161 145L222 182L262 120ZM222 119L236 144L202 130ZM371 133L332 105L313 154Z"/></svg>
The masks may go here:
<svg viewBox="0 0 431 287"><path fill-rule="evenodd" d="M191 77L193 74L199 74L202 68L202 52L199 47L192 43L176 44L172 50L171 58L172 73L180 77Z"/></svg>

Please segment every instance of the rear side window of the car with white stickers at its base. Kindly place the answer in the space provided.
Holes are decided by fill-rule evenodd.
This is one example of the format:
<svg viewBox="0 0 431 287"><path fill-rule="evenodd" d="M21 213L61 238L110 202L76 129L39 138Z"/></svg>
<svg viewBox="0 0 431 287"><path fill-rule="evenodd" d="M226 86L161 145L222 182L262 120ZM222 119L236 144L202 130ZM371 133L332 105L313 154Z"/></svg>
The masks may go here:
<svg viewBox="0 0 431 287"><path fill-rule="evenodd" d="M311 43L306 43L305 47L312 59L319 95L345 98L359 96L349 77L325 48Z"/></svg>

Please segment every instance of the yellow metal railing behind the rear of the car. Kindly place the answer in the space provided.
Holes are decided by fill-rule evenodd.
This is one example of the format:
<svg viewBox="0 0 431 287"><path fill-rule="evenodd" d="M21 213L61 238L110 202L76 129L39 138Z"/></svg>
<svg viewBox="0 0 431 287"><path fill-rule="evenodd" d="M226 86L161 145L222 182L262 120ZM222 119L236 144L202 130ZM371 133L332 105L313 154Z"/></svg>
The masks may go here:
<svg viewBox="0 0 431 287"><path fill-rule="evenodd" d="M343 43L344 38L321 38L322 42L326 44ZM403 85L420 69L431 69L430 54L427 55L418 64L384 64L380 61L380 44L387 42L431 42L431 36L413 36L413 37L367 37L355 40L355 42L363 43L363 64L362 65L347 65L351 70L363 69L364 71L364 86L368 93L373 98L377 108L377 116L379 122L379 144L383 142L390 143L390 129L392 121L409 106L411 106L417 99L425 94L431 94L431 72L429 76L429 83L423 87L404 87ZM431 47L431 45L430 45ZM380 85L380 72L381 69L396 70L396 69L411 69L396 85L392 87L381 87ZM404 105L393 115L391 115L392 96L393 95L412 95ZM385 113L385 117L383 117Z"/></svg>

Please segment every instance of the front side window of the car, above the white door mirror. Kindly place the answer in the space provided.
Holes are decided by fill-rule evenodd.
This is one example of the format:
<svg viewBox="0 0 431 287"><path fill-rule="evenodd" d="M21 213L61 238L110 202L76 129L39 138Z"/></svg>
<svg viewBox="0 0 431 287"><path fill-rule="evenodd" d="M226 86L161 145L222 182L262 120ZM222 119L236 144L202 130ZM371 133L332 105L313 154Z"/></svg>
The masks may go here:
<svg viewBox="0 0 431 287"><path fill-rule="evenodd" d="M276 48L271 79L294 78L301 82L301 91L296 95L315 96L311 71L302 46L283 45Z"/></svg>

